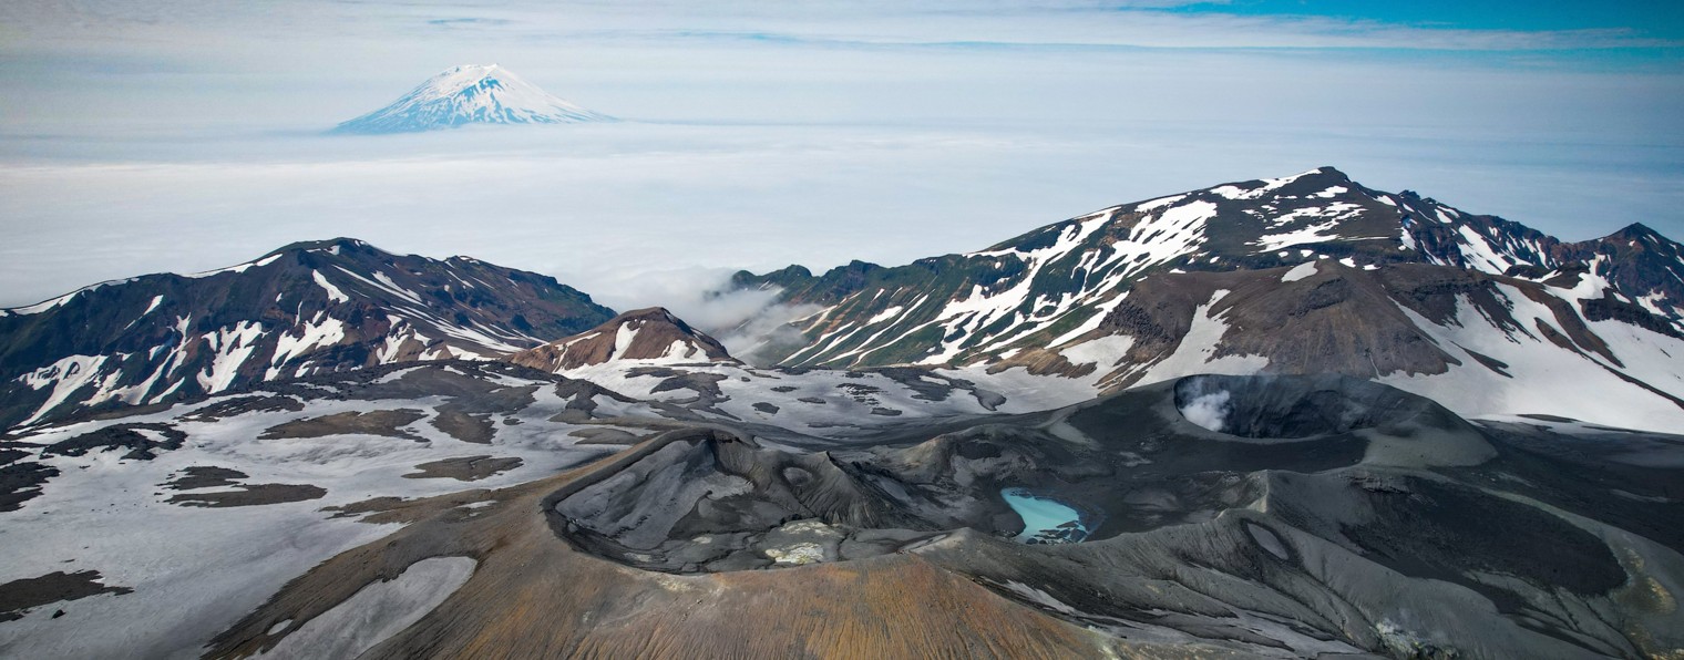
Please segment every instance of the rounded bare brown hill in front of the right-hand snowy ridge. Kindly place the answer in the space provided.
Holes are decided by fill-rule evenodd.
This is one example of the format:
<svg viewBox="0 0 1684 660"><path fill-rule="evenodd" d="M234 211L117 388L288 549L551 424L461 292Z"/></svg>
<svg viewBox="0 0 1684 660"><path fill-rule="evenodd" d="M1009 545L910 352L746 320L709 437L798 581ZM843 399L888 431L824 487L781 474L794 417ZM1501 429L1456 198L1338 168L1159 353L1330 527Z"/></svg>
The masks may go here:
<svg viewBox="0 0 1684 660"><path fill-rule="evenodd" d="M1100 327L1081 342L1108 337L1133 337L1120 364L1100 364L1113 370L1101 381L1110 391L1133 386L1150 365L1172 355L1187 337L1201 305L1219 291L1229 291L1207 313L1228 323L1212 357L1263 355L1268 372L1278 374L1346 374L1378 377L1386 374L1443 374L1462 360L1442 350L1411 322L1408 311L1443 323L1453 318L1458 300L1475 305L1492 322L1514 332L1536 332L1517 322L1499 298L1497 285L1509 285L1532 300L1546 295L1546 285L1485 274L1479 271L1393 264L1381 269L1342 266L1332 259L1315 264L1315 274L1282 281L1287 269L1233 273L1172 273L1135 286ZM1566 305L1549 305L1556 323L1568 328L1564 347L1605 359L1607 345L1591 333ZM1032 360L1032 364L1031 364ZM1024 352L995 369L1012 365L1047 369L1046 352ZM1500 365L1487 364L1499 370Z"/></svg>

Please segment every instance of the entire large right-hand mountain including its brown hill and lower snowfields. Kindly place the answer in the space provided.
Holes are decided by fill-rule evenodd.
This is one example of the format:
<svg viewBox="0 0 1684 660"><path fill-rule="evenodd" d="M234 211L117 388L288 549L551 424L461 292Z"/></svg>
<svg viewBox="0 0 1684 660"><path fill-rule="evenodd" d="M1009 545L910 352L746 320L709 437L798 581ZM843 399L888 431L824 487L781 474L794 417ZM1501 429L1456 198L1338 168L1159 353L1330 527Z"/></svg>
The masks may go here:
<svg viewBox="0 0 1684 660"><path fill-rule="evenodd" d="M791 367L1021 367L1100 391L1342 372L1467 414L1684 428L1684 246L1563 242L1324 167L1103 209L980 253L739 273L822 311ZM1596 386L1591 386L1596 384ZM1600 396L1580 396L1590 387Z"/></svg>

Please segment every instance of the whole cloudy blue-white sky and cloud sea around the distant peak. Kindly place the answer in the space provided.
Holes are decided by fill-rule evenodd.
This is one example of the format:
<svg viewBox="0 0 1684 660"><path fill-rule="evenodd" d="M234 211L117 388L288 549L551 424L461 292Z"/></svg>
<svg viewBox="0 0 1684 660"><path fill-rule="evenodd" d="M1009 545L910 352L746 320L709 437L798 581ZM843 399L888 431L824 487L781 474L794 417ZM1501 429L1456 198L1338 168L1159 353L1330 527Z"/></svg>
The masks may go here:
<svg viewBox="0 0 1684 660"><path fill-rule="evenodd" d="M0 3L0 305L350 234L632 306L1319 165L1684 237L1679 5ZM320 135L477 62L632 121Z"/></svg>

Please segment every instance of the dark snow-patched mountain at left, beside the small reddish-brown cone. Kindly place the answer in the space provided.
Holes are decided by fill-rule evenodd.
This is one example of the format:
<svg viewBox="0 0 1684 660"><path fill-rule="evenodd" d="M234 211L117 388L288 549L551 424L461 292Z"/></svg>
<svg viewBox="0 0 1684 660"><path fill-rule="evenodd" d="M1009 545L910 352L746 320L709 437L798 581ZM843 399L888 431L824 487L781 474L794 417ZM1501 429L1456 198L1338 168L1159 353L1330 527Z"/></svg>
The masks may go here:
<svg viewBox="0 0 1684 660"><path fill-rule="evenodd" d="M497 359L610 317L544 274L298 242L0 310L0 428L376 364Z"/></svg>

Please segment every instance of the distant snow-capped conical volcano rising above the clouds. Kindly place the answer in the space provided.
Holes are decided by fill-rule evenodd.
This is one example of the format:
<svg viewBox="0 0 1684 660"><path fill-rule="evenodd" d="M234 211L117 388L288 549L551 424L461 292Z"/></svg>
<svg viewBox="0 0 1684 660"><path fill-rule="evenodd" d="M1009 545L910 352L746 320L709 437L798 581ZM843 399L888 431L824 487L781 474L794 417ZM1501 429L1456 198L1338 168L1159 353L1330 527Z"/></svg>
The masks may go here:
<svg viewBox="0 0 1684 660"><path fill-rule="evenodd" d="M497 64L446 69L386 108L345 121L335 133L414 133L465 125L613 121L551 96Z"/></svg>

